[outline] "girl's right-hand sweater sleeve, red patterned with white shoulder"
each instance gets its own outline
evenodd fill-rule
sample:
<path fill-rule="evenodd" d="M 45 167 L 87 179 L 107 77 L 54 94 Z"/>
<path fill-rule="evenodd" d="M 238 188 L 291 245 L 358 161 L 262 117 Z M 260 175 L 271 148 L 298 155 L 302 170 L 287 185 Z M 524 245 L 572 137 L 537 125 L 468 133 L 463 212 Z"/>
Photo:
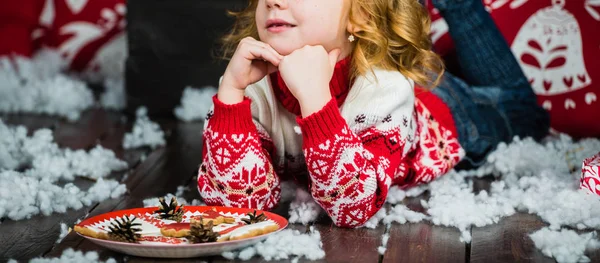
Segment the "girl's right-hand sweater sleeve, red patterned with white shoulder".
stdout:
<path fill-rule="evenodd" d="M 353 113 L 364 112 L 349 121 L 335 100 L 298 120 L 311 194 L 338 226 L 363 225 L 385 203 L 392 180 L 408 173 L 416 124 L 414 93 L 405 84 L 403 92 L 373 87 L 359 95 L 361 102 L 346 103 Z"/>

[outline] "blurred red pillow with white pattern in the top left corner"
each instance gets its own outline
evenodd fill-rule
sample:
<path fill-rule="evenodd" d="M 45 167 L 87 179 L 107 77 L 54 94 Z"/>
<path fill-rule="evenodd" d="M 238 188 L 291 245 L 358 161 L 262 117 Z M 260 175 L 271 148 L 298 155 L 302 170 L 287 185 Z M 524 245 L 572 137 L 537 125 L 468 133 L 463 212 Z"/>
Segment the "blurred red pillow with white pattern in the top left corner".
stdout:
<path fill-rule="evenodd" d="M 124 58 L 125 0 L 5 1 L 0 10 L 0 55 L 31 56 L 57 49 L 74 71 L 111 71 Z"/>

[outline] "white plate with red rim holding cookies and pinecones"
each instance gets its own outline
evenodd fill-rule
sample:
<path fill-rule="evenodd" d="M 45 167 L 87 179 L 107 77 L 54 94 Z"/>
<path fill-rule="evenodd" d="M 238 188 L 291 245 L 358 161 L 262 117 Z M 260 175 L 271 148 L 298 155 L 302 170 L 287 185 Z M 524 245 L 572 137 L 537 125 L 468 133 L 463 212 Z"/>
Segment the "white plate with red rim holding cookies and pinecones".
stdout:
<path fill-rule="evenodd" d="M 114 211 L 85 219 L 76 225 L 79 227 L 92 229 L 96 232 L 108 232 L 108 226 L 116 218 L 135 217 L 136 219 L 134 222 L 141 223 L 142 239 L 140 240 L 140 243 L 117 242 L 94 238 L 81 233 L 77 234 L 102 247 L 127 255 L 156 258 L 191 258 L 219 255 L 226 251 L 240 249 L 256 244 L 266 239 L 270 235 L 283 230 L 288 225 L 288 221 L 284 217 L 271 212 L 256 210 L 256 215 L 264 213 L 267 217 L 267 221 L 275 223 L 279 228 L 274 232 L 240 240 L 191 244 L 188 243 L 185 238 L 165 237 L 160 233 L 160 228 L 169 224 L 175 225 L 178 223 L 171 220 L 159 219 L 157 214 L 154 213 L 154 211 L 157 209 L 157 207 L 146 207 Z M 212 216 L 215 215 L 233 217 L 235 218 L 235 223 L 221 224 L 213 228 L 216 229 L 215 231 L 217 232 L 228 233 L 233 229 L 242 228 L 245 223 L 243 223 L 241 219 L 248 218 L 247 214 L 254 213 L 255 210 L 222 206 L 185 206 L 184 211 L 185 213 L 183 215 L 182 223 L 189 223 L 190 218 L 199 215 L 206 216 L 207 213 L 209 214 L 208 218 L 212 218 Z M 179 223 L 178 225 L 181 224 Z"/>

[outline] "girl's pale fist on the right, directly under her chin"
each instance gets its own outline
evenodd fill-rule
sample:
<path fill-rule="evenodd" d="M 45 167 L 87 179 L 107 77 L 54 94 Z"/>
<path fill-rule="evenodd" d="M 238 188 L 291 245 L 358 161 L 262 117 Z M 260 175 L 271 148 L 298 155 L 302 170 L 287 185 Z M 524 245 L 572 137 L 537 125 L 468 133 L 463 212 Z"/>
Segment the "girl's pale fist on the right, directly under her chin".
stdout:
<path fill-rule="evenodd" d="M 305 46 L 285 56 L 279 73 L 306 117 L 331 100 L 329 82 L 340 55 L 339 49 L 327 53 L 323 46 Z"/>

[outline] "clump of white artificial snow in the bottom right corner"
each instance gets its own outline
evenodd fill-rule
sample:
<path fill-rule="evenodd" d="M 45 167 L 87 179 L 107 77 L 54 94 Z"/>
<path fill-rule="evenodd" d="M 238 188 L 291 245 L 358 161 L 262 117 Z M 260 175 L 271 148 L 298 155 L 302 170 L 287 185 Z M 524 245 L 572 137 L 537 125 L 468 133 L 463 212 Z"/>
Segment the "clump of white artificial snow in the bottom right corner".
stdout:
<path fill-rule="evenodd" d="M 573 230 L 560 231 L 542 228 L 530 235 L 535 246 L 548 257 L 553 257 L 558 263 L 590 262 L 584 255 L 586 249 L 600 248 L 596 233 L 577 234 Z"/>

